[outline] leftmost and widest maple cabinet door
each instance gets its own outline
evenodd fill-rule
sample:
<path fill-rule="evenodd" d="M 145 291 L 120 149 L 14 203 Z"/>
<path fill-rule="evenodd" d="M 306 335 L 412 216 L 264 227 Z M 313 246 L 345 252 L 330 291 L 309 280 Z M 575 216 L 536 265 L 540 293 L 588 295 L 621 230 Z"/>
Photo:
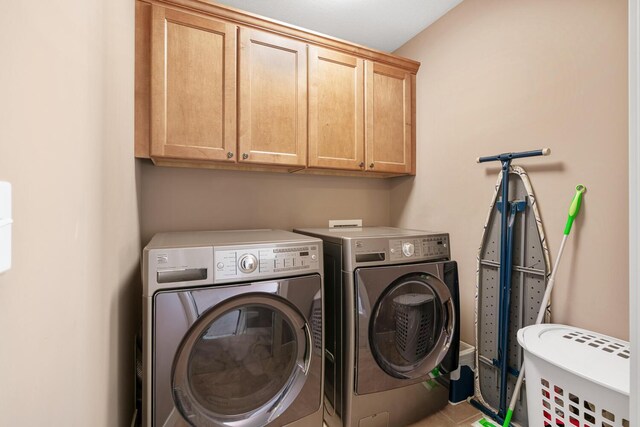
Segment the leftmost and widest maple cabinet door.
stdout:
<path fill-rule="evenodd" d="M 151 157 L 235 161 L 234 25 L 153 6 Z"/>

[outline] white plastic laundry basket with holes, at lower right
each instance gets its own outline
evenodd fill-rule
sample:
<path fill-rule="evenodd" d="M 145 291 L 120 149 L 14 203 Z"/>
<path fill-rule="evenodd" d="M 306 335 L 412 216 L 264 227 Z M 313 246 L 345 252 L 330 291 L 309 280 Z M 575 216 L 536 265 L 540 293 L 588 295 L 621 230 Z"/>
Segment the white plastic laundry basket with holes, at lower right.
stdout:
<path fill-rule="evenodd" d="M 532 427 L 629 427 L 629 343 L 564 325 L 518 331 Z"/>

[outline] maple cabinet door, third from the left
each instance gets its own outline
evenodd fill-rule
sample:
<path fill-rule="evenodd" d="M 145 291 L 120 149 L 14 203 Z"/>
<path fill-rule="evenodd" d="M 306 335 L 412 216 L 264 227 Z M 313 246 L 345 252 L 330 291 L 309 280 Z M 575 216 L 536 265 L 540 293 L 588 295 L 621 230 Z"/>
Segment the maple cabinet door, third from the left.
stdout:
<path fill-rule="evenodd" d="M 309 166 L 364 168 L 363 60 L 309 47 Z"/>

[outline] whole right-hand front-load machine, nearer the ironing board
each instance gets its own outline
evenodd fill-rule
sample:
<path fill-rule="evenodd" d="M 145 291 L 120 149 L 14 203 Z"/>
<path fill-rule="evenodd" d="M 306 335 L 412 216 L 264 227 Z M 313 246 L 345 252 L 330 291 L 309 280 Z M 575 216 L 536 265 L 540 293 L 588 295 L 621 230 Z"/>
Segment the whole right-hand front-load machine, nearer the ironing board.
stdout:
<path fill-rule="evenodd" d="M 325 422 L 399 427 L 444 407 L 459 349 L 449 235 L 389 227 L 294 231 L 324 241 Z"/>

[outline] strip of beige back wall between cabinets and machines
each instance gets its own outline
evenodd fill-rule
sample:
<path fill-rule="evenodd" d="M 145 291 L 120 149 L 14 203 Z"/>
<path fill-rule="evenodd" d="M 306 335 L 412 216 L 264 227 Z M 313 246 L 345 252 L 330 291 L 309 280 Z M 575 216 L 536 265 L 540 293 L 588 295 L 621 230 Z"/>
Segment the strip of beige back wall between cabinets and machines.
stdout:
<path fill-rule="evenodd" d="M 281 173 L 141 169 L 143 245 L 182 230 L 326 227 L 329 219 L 389 224 L 389 180 Z"/>

